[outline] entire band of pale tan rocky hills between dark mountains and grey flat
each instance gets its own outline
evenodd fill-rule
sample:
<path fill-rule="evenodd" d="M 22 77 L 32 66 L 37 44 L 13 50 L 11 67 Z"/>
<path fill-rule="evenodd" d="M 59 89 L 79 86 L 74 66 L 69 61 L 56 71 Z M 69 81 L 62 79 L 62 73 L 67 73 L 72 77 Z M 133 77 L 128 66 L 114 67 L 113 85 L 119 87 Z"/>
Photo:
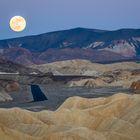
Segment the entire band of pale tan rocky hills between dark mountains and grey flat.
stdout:
<path fill-rule="evenodd" d="M 67 60 L 49 64 L 33 65 L 35 69 L 53 72 L 54 75 L 80 75 L 89 77 L 73 78 L 67 81 L 70 87 L 107 87 L 121 86 L 129 88 L 132 82 L 140 79 L 140 64 L 121 62 L 113 64 L 98 64 L 87 60 Z"/>

